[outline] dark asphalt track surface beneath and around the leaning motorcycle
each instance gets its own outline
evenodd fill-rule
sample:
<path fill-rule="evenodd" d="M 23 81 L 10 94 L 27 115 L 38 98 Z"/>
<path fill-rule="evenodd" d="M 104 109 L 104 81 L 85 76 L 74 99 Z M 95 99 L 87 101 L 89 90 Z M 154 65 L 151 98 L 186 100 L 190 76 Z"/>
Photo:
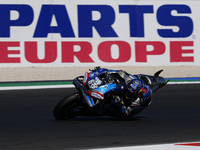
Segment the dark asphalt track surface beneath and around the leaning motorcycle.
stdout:
<path fill-rule="evenodd" d="M 59 150 L 200 141 L 200 84 L 167 85 L 137 116 L 57 121 L 56 103 L 75 89 L 0 91 L 0 149 Z"/>

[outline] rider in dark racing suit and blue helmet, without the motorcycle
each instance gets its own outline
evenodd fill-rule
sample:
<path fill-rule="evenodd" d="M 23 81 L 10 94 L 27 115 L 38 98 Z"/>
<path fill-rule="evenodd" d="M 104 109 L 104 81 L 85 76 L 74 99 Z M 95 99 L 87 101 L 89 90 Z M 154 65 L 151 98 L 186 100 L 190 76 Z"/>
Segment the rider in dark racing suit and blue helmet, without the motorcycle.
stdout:
<path fill-rule="evenodd" d="M 124 116 L 132 112 L 139 113 L 151 104 L 151 88 L 140 79 L 140 75 L 131 75 L 123 70 L 107 70 L 108 82 L 118 82 L 120 94 L 113 95 L 113 103 L 121 109 Z M 116 92 L 119 93 L 119 92 Z"/>

